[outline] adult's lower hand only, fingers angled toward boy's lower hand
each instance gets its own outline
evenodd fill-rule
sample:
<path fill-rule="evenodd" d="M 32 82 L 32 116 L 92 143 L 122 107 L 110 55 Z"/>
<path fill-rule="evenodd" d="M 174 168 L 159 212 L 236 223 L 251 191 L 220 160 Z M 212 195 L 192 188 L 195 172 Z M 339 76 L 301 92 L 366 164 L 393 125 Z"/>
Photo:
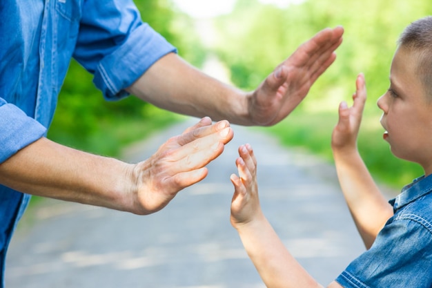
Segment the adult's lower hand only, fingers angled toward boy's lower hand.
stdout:
<path fill-rule="evenodd" d="M 181 189 L 206 177 L 206 164 L 224 151 L 233 138 L 227 121 L 211 125 L 208 117 L 179 136 L 170 138 L 157 152 L 133 169 L 135 213 L 164 208 Z"/>

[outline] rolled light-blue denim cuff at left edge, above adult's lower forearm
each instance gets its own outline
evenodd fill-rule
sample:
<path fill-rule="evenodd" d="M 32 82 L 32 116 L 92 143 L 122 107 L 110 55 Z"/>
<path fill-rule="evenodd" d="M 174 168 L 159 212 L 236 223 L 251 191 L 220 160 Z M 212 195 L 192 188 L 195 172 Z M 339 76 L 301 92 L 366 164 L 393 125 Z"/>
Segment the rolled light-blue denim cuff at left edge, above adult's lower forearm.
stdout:
<path fill-rule="evenodd" d="M 0 98 L 0 164 L 45 135 L 46 128 Z"/>

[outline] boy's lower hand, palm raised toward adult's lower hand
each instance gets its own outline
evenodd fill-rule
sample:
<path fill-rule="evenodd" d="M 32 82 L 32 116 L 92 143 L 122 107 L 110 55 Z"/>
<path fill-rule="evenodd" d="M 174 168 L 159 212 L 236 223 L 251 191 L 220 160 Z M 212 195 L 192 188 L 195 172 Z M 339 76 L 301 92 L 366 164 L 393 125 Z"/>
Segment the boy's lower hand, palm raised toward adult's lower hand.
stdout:
<path fill-rule="evenodd" d="M 235 189 L 230 220 L 235 229 L 262 216 L 258 199 L 257 160 L 251 145 L 240 146 L 239 155 L 235 161 L 239 176 L 233 174 L 230 177 Z"/>

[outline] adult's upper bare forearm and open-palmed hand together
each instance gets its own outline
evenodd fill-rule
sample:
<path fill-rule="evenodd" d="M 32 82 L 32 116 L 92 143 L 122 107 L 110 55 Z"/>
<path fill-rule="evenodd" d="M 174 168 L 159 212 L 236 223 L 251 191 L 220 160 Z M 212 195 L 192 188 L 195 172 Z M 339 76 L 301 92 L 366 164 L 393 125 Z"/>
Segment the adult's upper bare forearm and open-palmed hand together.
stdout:
<path fill-rule="evenodd" d="M 324 29 L 268 75 L 252 93 L 209 77 L 174 53 L 161 57 L 128 91 L 169 111 L 227 119 L 247 126 L 280 122 L 306 97 L 317 77 L 335 61 L 344 29 Z"/>

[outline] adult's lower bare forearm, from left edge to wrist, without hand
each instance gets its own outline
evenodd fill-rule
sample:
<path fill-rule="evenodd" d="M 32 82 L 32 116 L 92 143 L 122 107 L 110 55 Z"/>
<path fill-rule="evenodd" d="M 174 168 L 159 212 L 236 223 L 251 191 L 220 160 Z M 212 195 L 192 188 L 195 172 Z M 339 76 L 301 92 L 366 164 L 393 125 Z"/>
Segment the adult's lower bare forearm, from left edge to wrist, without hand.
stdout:
<path fill-rule="evenodd" d="M 131 169 L 41 138 L 0 164 L 0 183 L 32 195 L 130 211 Z"/>

